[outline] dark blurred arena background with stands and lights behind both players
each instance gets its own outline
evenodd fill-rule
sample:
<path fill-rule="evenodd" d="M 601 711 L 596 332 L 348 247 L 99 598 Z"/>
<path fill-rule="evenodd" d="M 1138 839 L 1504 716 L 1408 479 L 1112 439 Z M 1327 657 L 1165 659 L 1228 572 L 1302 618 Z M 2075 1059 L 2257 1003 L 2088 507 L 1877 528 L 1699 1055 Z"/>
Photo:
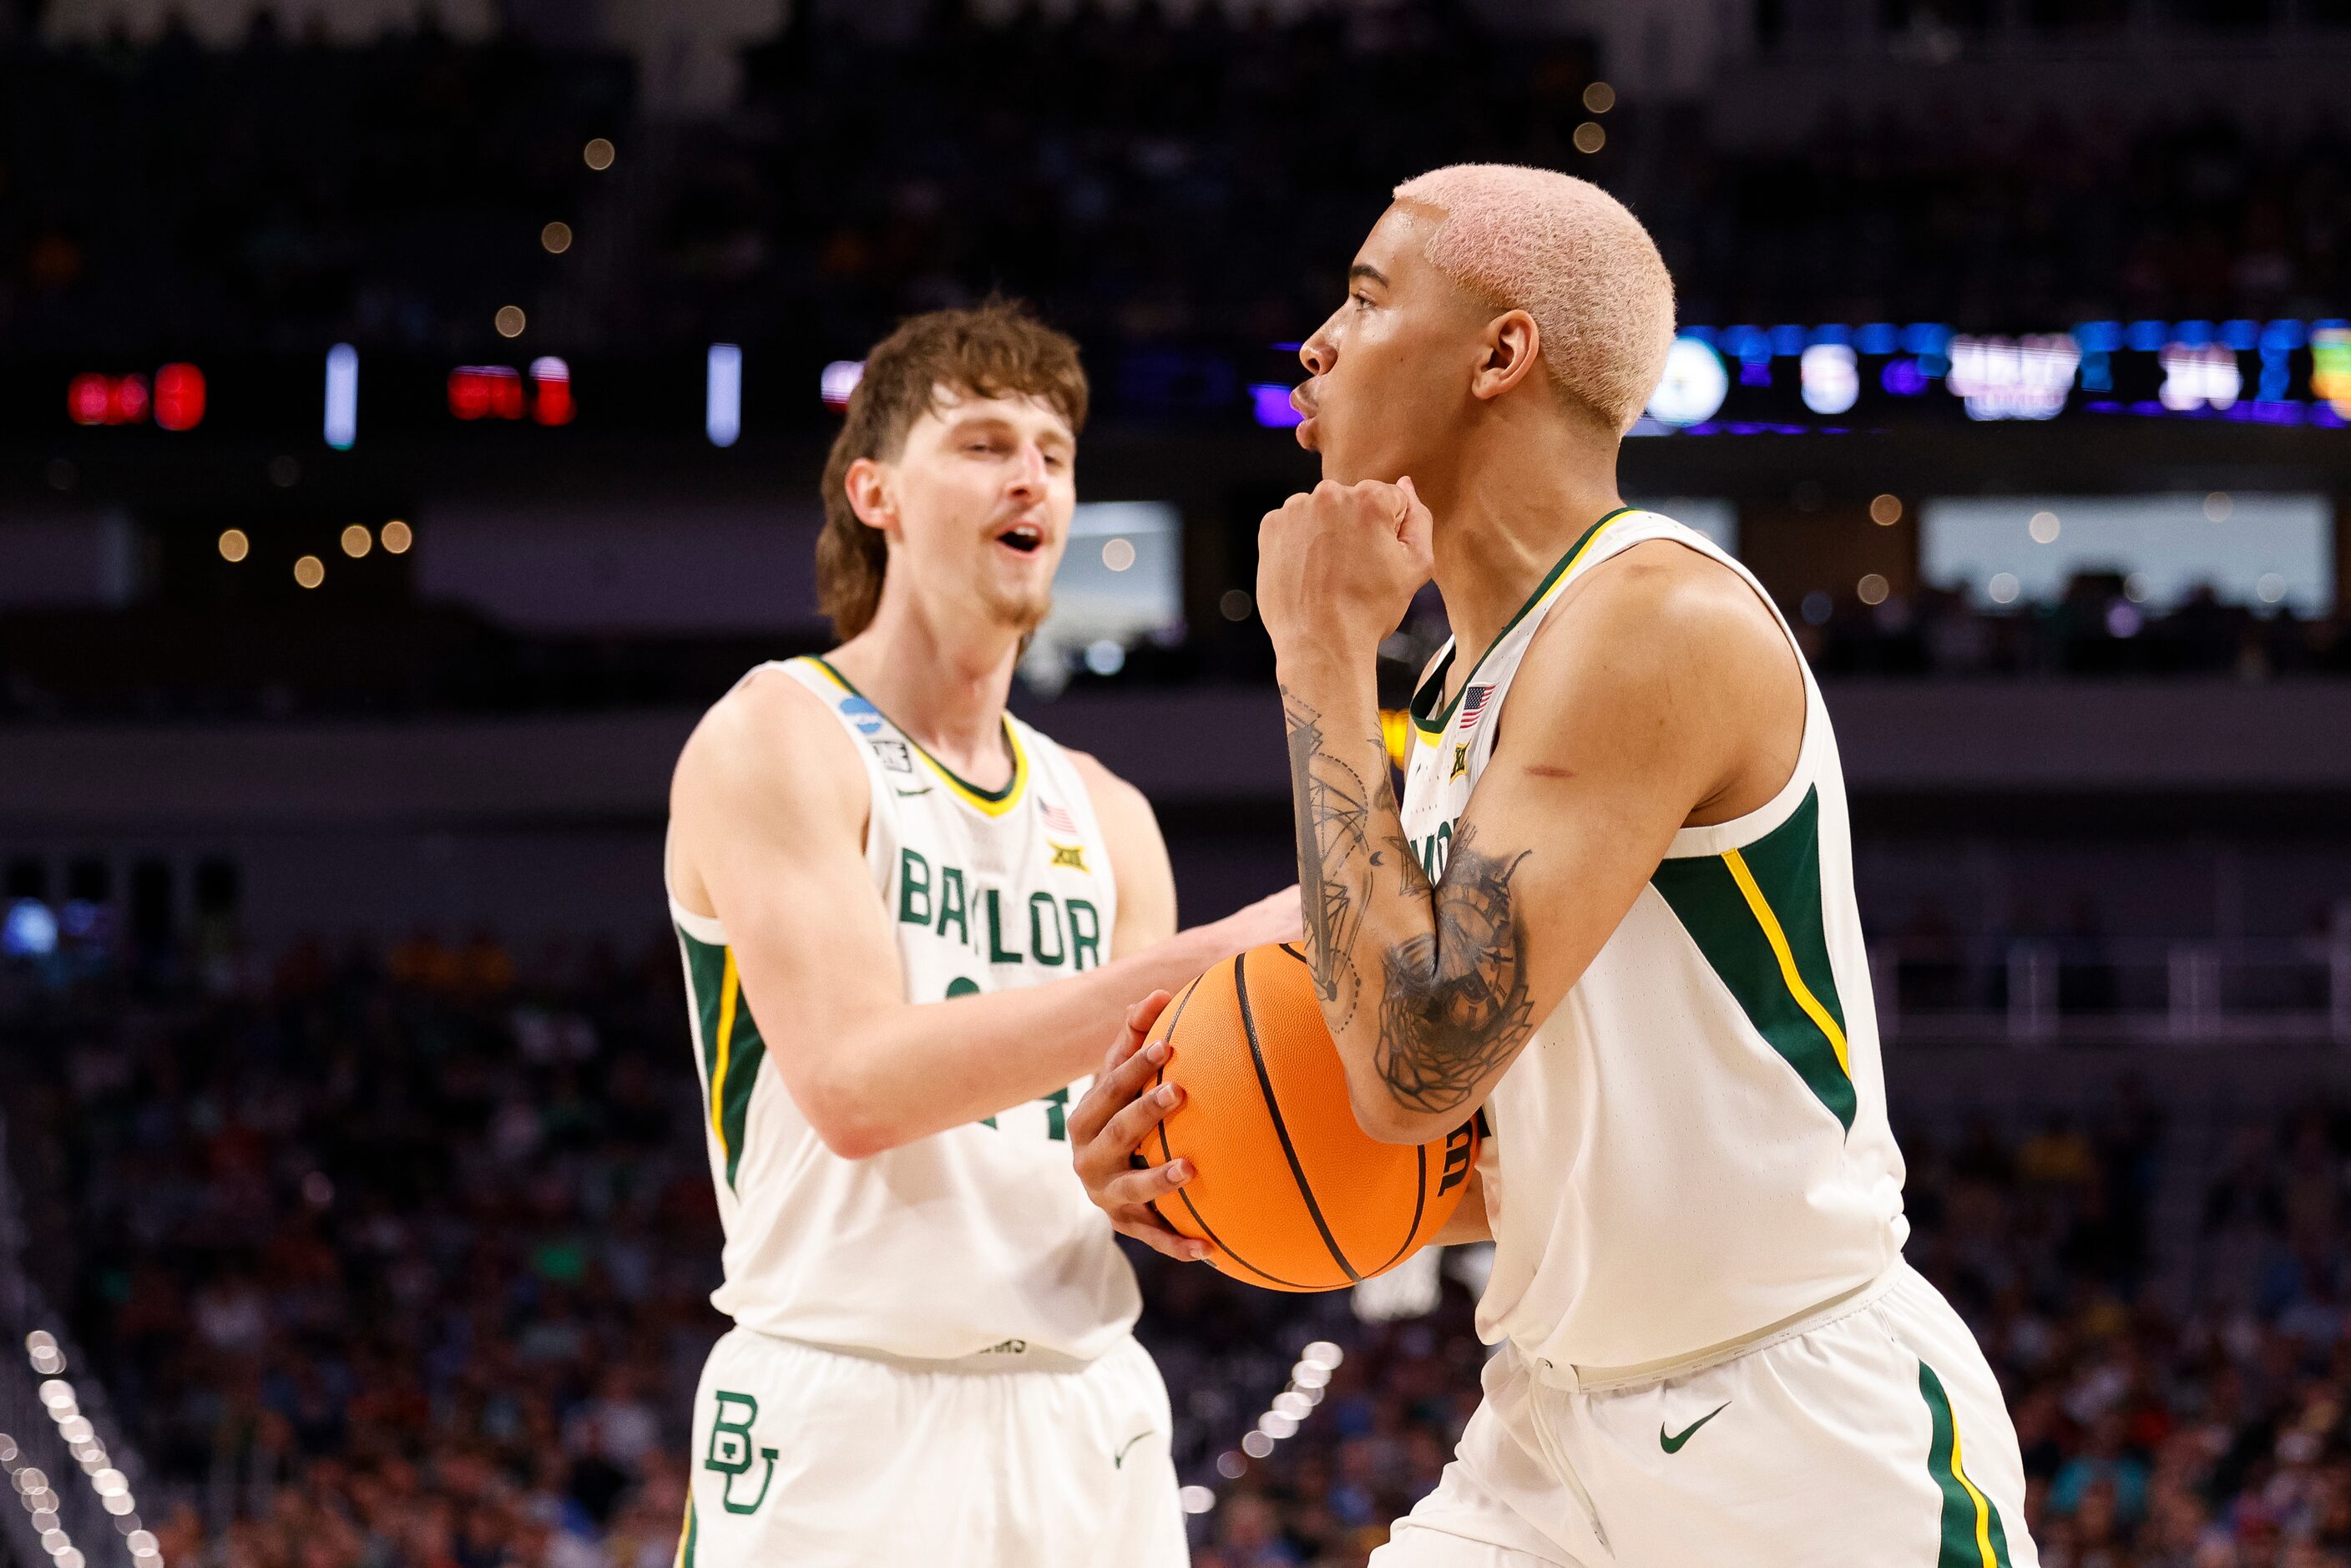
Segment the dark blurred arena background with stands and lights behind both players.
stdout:
<path fill-rule="evenodd" d="M 1523 160 L 1674 270 L 1622 489 L 1822 675 L 2045 1561 L 2351 1561 L 2346 68 L 2346 0 L 0 2 L 0 1556 L 668 1563 L 665 780 L 823 646 L 828 400 L 938 303 L 1081 339 L 1016 705 L 1218 914 L 1293 877 L 1288 346 Z M 1147 1269 L 1204 1568 L 1434 1481 L 1479 1262 Z"/>

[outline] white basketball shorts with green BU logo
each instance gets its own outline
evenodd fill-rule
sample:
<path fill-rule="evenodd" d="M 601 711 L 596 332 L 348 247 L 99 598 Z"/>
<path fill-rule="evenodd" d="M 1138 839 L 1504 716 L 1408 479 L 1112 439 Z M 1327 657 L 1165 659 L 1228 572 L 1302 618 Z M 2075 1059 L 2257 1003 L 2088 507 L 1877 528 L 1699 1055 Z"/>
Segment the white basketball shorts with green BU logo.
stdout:
<path fill-rule="evenodd" d="M 1185 1568 L 1171 1432 L 1133 1340 L 933 1371 L 736 1328 L 694 1394 L 677 1568 Z"/>

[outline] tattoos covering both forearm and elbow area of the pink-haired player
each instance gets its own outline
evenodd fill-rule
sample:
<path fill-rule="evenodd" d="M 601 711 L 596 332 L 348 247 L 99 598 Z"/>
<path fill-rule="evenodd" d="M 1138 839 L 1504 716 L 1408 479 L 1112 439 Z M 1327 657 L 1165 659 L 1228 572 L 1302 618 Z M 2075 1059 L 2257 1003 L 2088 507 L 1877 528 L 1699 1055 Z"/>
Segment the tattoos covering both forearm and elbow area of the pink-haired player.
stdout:
<path fill-rule="evenodd" d="M 1288 689 L 1281 691 L 1281 705 L 1298 806 L 1307 961 L 1324 1013 L 1333 1032 L 1354 1020 L 1361 999 L 1354 947 L 1373 877 L 1394 865 L 1396 893 L 1420 903 L 1429 929 L 1389 943 L 1378 957 L 1380 1032 L 1373 1065 L 1396 1105 L 1460 1110 L 1535 1025 L 1526 985 L 1526 929 L 1509 903 L 1509 879 L 1526 851 L 1488 856 L 1476 846 L 1476 827 L 1462 823 L 1444 882 L 1432 889 L 1404 837 L 1387 769 L 1375 766 L 1375 783 L 1366 783 L 1328 745 L 1321 712 Z M 1364 745 L 1364 755 L 1385 757 L 1378 736 Z"/>

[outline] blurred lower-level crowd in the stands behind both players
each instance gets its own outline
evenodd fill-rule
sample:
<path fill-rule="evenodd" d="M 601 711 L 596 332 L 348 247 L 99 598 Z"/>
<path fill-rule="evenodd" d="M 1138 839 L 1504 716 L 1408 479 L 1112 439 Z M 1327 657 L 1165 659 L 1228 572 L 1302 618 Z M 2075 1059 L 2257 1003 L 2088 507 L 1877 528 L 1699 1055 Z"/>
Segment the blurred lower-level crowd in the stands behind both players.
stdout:
<path fill-rule="evenodd" d="M 165 1561 L 658 1568 L 717 1225 L 675 954 L 489 938 L 59 987 L 0 969 L 31 1220 Z M 2050 1568 L 2351 1563 L 2351 1112 L 1904 1128 L 1911 1260 L 2015 1408 Z M 2215 1131 L 2217 1128 L 2217 1131 Z M 2208 1152 L 2210 1150 L 2210 1152 Z M 1460 1269 L 1453 1269 L 1460 1272 Z M 1474 1408 L 1469 1298 L 1359 1324 L 1145 1260 L 1199 1568 L 1347 1568 Z M 1310 1340 L 1302 1429 L 1239 1450 Z"/>

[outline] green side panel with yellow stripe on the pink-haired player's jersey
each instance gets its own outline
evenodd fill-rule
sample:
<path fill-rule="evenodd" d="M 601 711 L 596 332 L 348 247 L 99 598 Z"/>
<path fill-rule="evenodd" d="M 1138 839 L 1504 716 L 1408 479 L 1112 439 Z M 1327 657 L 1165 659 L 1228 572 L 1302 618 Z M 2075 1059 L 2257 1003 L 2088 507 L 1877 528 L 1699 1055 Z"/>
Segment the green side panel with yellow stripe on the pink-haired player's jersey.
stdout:
<path fill-rule="evenodd" d="M 1860 1095 L 1820 896 L 1820 790 L 1754 844 L 1662 860 L 1648 882 L 1763 1041 L 1850 1133 Z"/>

